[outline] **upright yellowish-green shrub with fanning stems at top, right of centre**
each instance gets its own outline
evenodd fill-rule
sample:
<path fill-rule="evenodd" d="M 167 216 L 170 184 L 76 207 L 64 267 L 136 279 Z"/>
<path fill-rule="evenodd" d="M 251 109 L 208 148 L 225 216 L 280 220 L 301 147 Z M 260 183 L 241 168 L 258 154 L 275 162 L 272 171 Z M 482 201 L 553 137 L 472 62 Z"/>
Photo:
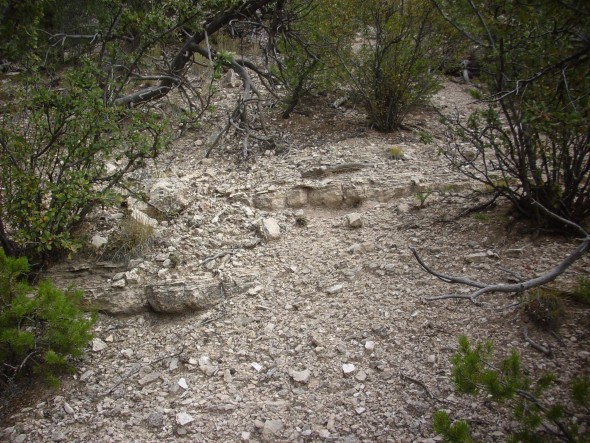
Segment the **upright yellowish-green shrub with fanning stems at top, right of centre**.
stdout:
<path fill-rule="evenodd" d="M 426 1 L 354 3 L 361 35 L 340 59 L 372 126 L 399 129 L 437 91 L 440 29 Z"/>

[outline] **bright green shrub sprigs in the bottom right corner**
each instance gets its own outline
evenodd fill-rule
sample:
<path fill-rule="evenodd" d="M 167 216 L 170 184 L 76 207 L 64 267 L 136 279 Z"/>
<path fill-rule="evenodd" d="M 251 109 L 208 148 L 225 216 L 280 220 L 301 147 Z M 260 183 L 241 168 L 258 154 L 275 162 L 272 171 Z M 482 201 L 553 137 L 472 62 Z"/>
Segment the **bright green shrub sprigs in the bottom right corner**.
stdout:
<path fill-rule="evenodd" d="M 452 377 L 457 391 L 470 395 L 483 393 L 495 402 L 513 407 L 519 426 L 508 441 L 544 442 L 584 440 L 576 415 L 586 415 L 590 403 L 590 378 L 581 377 L 571 384 L 571 404 L 566 406 L 543 399 L 555 384 L 555 375 L 546 373 L 532 381 L 523 369 L 520 356 L 512 351 L 500 362 L 494 361 L 492 342 L 471 346 L 465 336 L 459 338 L 459 350 L 451 357 Z M 576 414 L 577 413 L 577 414 Z M 437 411 L 434 430 L 447 442 L 471 442 L 469 425 L 451 422 L 446 411 Z"/>

